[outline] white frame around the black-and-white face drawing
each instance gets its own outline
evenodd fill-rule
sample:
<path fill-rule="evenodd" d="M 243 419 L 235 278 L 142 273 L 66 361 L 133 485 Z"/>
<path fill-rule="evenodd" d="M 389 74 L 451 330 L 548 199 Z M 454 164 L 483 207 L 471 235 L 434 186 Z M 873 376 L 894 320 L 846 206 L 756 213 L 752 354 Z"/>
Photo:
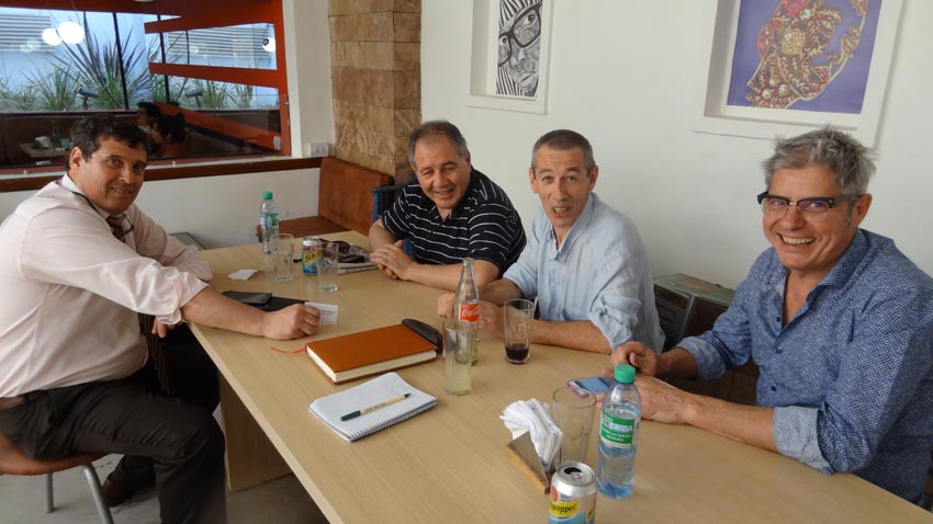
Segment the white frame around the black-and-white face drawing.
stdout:
<path fill-rule="evenodd" d="M 501 9 L 503 2 L 507 9 Z M 499 37 L 504 33 L 508 35 L 506 37 L 514 36 L 519 30 L 517 26 L 510 26 L 501 31 L 502 12 L 509 11 L 508 8 L 512 8 L 515 14 L 513 19 L 503 21 L 506 23 L 512 21 L 518 24 L 519 19 L 533 22 L 535 16 L 538 16 L 540 32 L 537 41 L 530 43 L 538 52 L 537 86 L 532 89 L 533 94 L 528 94 L 528 91 L 503 92 L 508 91 L 503 89 L 503 83 L 509 80 L 503 79 L 504 73 L 501 76 L 504 65 L 499 64 L 503 58 L 499 53 Z M 473 0 L 470 93 L 466 102 L 469 106 L 521 113 L 547 113 L 552 15 L 553 0 Z M 514 38 L 510 42 L 516 45 Z M 527 43 L 522 42 L 522 44 Z M 506 54 L 512 58 L 510 53 Z"/>

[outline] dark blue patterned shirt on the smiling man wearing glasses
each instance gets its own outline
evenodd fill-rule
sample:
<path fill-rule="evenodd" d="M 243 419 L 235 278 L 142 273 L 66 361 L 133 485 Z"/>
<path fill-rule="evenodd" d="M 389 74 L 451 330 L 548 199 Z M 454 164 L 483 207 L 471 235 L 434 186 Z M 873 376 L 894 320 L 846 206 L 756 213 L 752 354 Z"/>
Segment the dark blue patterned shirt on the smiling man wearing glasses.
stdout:
<path fill-rule="evenodd" d="M 782 326 L 786 278 L 768 249 L 712 330 L 678 344 L 697 378 L 752 358 L 783 455 L 918 502 L 933 445 L 933 278 L 865 230 Z"/>

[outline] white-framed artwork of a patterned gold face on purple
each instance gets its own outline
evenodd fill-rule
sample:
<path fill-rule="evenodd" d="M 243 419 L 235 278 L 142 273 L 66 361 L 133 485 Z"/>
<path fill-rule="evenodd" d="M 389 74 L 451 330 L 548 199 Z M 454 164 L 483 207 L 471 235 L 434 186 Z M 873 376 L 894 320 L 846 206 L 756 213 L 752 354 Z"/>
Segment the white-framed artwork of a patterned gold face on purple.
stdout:
<path fill-rule="evenodd" d="M 695 130 L 875 141 L 902 0 L 707 0 Z"/>

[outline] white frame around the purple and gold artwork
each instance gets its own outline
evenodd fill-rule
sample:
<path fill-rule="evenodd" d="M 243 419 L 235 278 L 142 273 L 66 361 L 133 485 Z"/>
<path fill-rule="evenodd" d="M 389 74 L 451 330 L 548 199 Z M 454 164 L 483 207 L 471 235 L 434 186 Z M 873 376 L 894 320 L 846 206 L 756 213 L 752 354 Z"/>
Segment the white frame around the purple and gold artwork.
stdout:
<path fill-rule="evenodd" d="M 761 0 L 709 1 L 712 5 L 709 9 L 708 20 L 700 23 L 704 27 L 700 42 L 708 44 L 700 46 L 700 57 L 697 62 L 695 93 L 699 100 L 695 103 L 697 112 L 694 117 L 694 130 L 774 139 L 776 136 L 795 136 L 831 124 L 851 133 L 868 147 L 875 145 L 903 0 L 867 0 L 869 11 L 865 20 L 872 15 L 877 18 L 870 20 L 874 24 L 872 41 L 867 42 L 867 38 L 859 41 L 853 55 L 853 57 L 862 56 L 864 60 L 864 54 L 867 53 L 869 60 L 869 65 L 866 66 L 867 73 L 861 79 L 855 79 L 855 82 L 859 80 L 864 82 L 861 104 L 858 100 L 855 100 L 854 104 L 861 105 L 857 111 L 797 110 L 794 106 L 801 105 L 797 103 L 790 104 L 787 109 L 742 106 L 734 103 L 734 92 L 733 103 L 728 103 L 730 82 L 732 82 L 733 91 L 735 84 L 731 76 L 733 70 L 738 69 L 734 52 L 740 32 L 740 8 L 743 2 L 760 4 Z M 827 3 L 830 1 L 827 0 Z M 771 9 L 774 10 L 777 3 L 775 1 Z M 758 8 L 758 4 L 754 8 Z M 865 35 L 867 34 L 866 31 Z M 870 47 L 867 44 L 872 44 Z"/>

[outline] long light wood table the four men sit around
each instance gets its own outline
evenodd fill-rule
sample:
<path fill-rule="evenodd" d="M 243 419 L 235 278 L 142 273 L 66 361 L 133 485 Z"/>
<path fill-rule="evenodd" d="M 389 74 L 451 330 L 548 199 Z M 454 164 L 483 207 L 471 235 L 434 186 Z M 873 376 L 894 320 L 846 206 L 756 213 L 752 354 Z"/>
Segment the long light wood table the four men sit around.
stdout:
<path fill-rule="evenodd" d="M 339 238 L 363 242 L 357 233 Z M 416 318 L 439 326 L 441 293 L 390 281 L 375 271 L 341 275 L 336 294 L 318 294 L 315 277 L 296 269 L 291 283 L 257 274 L 246 282 L 225 275 L 260 264 L 259 244 L 202 252 L 218 291 L 271 291 L 277 295 L 337 304 L 328 338 Z M 350 387 L 334 386 L 297 349 L 307 338 L 276 342 L 212 328 L 194 333 L 229 384 L 222 406 L 228 441 L 228 475 L 268 477 L 270 459 L 249 436 L 236 398 L 243 401 L 288 467 L 333 523 L 543 523 L 547 497 L 508 459 L 512 435 L 498 420 L 508 403 L 550 400 L 569 378 L 598 373 L 605 356 L 535 345 L 526 365 L 504 362 L 501 341 L 481 342 L 473 391 L 462 397 L 441 389 L 442 362 L 400 371 L 415 387 L 438 397 L 426 413 L 355 443 L 315 419 L 307 405 Z M 233 398 L 235 395 L 236 398 Z M 244 442 L 246 441 L 246 442 Z M 587 460 L 596 464 L 596 438 Z M 276 468 L 272 467 L 272 470 Z M 258 474 L 257 474 L 258 472 Z M 245 483 L 244 483 L 245 485 Z M 825 476 L 775 453 L 685 426 L 643 422 L 634 493 L 618 501 L 597 498 L 599 523 L 657 522 L 931 522 L 933 515 L 853 475 Z"/>

